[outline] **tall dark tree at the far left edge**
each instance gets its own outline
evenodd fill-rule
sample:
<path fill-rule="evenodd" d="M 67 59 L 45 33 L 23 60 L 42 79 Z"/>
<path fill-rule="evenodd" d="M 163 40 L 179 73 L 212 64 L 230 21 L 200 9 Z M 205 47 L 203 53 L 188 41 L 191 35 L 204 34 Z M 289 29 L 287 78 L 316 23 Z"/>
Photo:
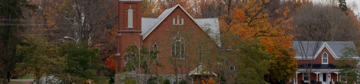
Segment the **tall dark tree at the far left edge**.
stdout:
<path fill-rule="evenodd" d="M 1 57 L 3 83 L 10 82 L 10 71 L 15 68 L 16 62 L 21 61 L 15 56 L 17 45 L 17 32 L 24 30 L 24 27 L 16 24 L 23 18 L 23 9 L 35 9 L 36 6 L 28 3 L 27 0 L 0 0 L 0 18 L 4 24 L 0 25 Z M 6 81 L 8 79 L 8 81 Z"/>

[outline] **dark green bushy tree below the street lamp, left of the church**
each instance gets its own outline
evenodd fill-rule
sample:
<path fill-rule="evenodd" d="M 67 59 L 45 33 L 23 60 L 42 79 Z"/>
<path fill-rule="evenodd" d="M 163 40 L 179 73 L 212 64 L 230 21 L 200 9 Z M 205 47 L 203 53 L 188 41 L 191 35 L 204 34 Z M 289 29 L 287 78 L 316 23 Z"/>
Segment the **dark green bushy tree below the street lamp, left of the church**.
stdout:
<path fill-rule="evenodd" d="M 62 80 L 60 83 L 107 83 L 103 77 L 96 74 L 96 69 L 104 67 L 99 63 L 99 48 L 89 49 L 87 43 L 67 42 L 59 45 L 59 56 L 66 58 L 66 69 L 56 73 L 54 78 Z"/>

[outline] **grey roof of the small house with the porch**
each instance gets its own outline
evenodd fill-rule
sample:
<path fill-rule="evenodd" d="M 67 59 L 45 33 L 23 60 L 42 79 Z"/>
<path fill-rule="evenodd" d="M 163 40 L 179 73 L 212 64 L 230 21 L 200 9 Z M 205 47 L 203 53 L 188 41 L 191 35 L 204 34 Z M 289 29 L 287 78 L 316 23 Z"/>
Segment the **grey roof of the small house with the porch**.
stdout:
<path fill-rule="evenodd" d="M 353 41 L 293 41 L 292 48 L 295 50 L 296 58 L 301 58 L 302 56 L 312 57 L 325 43 L 329 45 L 330 49 L 334 52 L 334 54 L 336 54 L 337 57 L 343 56 L 342 49 L 345 47 L 355 48 Z"/>

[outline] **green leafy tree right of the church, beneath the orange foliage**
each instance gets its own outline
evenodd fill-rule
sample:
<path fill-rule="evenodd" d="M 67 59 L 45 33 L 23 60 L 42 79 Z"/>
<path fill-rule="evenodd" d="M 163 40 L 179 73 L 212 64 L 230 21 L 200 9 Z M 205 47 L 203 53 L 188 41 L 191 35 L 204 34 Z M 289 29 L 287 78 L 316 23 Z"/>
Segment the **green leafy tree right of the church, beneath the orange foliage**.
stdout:
<path fill-rule="evenodd" d="M 240 84 L 269 84 L 264 80 L 268 74 L 271 55 L 263 50 L 260 41 L 248 41 L 236 44 L 233 52 L 236 53 L 239 66 L 237 83 Z"/>

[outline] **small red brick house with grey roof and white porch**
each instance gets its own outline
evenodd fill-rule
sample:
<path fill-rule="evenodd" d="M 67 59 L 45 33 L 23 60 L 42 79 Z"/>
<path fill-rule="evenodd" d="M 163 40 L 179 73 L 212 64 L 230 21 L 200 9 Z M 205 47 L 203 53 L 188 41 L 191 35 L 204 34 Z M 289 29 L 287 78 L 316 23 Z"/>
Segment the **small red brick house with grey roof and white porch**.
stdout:
<path fill-rule="evenodd" d="M 343 49 L 347 47 L 355 48 L 354 42 L 293 41 L 292 48 L 296 53 L 298 70 L 296 71 L 296 77 L 290 79 L 289 84 L 302 84 L 302 81 L 310 83 L 311 80 L 315 82 L 321 81 L 322 84 L 330 84 L 330 81 L 344 81 L 341 80 L 339 69 L 336 68 L 334 63 L 343 56 Z M 354 56 L 353 58 L 357 59 L 359 57 Z M 308 72 L 311 72 L 310 76 L 307 75 Z"/>

